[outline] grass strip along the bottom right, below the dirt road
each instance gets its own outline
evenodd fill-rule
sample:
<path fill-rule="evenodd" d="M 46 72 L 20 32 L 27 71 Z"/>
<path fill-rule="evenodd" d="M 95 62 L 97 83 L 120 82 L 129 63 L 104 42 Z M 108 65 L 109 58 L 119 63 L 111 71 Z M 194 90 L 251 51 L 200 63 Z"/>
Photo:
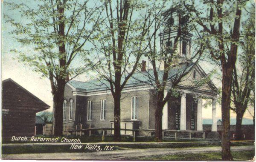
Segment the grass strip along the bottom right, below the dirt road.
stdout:
<path fill-rule="evenodd" d="M 232 156 L 234 160 L 244 161 L 252 160 L 255 155 L 254 150 L 250 151 L 233 151 Z M 135 159 L 134 159 L 135 160 Z M 136 158 L 136 160 L 221 160 L 221 152 L 205 152 L 205 153 L 177 153 L 175 155 L 165 156 L 148 156 Z"/>

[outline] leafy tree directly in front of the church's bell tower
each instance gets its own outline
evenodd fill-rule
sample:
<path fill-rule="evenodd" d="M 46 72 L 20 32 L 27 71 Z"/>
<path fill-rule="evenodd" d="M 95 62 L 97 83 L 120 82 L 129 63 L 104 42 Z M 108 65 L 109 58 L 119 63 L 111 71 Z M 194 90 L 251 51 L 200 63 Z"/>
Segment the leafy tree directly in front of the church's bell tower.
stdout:
<path fill-rule="evenodd" d="M 189 23 L 189 15 L 186 9 L 180 5 L 180 3 L 173 3 L 172 6 L 177 6 L 168 9 L 160 15 L 159 19 L 154 21 L 154 30 L 148 31 L 148 50 L 145 54 L 151 64 L 152 69 L 142 72 L 145 78 L 144 83 L 153 87 L 154 95 L 156 96 L 156 110 L 155 110 L 155 134 L 154 140 L 161 142 L 163 139 L 162 134 L 162 115 L 163 107 L 166 102 L 175 97 L 178 94 L 175 88 L 181 88 L 180 82 L 183 82 L 185 77 L 192 68 L 198 63 L 201 54 L 204 51 L 204 45 L 198 41 L 198 48 L 195 48 L 195 52 L 190 54 L 189 50 L 183 54 L 179 52 L 180 42 L 188 39 L 187 35 L 194 30 L 194 27 Z M 172 14 L 177 17 L 177 21 Z M 175 33 L 175 37 L 172 35 Z M 166 39 L 164 40 L 163 39 Z M 174 37 L 174 38 L 173 38 Z M 160 43 L 161 42 L 161 43 Z M 160 43 L 160 46 L 158 45 Z M 191 42 L 187 42 L 191 45 Z M 192 63 L 192 60 L 195 62 Z M 160 62 L 160 63 L 159 63 Z M 162 66 L 162 67 L 160 67 Z M 170 74 L 170 71 L 178 71 L 176 76 Z M 138 79 L 140 82 L 142 80 Z M 186 89 L 196 88 L 209 81 L 209 77 L 203 80 L 194 82 L 194 85 L 189 85 Z M 169 89 L 169 90 L 167 90 Z M 165 91 L 167 92 L 165 94 Z"/>

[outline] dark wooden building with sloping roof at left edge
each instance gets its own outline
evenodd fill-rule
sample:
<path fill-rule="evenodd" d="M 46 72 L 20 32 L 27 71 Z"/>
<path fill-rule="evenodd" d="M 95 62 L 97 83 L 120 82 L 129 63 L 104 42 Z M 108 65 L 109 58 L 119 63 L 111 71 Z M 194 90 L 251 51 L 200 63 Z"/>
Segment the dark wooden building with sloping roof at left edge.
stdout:
<path fill-rule="evenodd" d="M 33 136 L 35 116 L 50 108 L 12 79 L 2 82 L 2 137 Z"/>

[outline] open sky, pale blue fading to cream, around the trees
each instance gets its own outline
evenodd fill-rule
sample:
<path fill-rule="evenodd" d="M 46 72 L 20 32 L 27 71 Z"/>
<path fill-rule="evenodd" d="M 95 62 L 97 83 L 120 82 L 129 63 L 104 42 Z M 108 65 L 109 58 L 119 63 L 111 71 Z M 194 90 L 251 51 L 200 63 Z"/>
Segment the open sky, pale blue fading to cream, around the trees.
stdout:
<path fill-rule="evenodd" d="M 15 2 L 15 0 L 9 0 Z M 34 0 L 21 0 L 21 2 L 27 2 L 31 7 L 35 5 Z M 31 53 L 33 52 L 32 47 L 22 46 L 20 43 L 14 38 L 13 34 L 9 32 L 12 30 L 12 27 L 5 23 L 3 19 L 3 14 L 7 14 L 10 17 L 13 17 L 17 20 L 26 22 L 27 20 L 23 17 L 20 17 L 19 12 L 17 11 L 9 11 L 7 7 L 2 5 L 2 44 L 1 44 L 1 80 L 6 80 L 11 78 L 23 88 L 26 88 L 29 92 L 34 94 L 36 97 L 47 103 L 51 108 L 48 111 L 52 111 L 52 94 L 50 88 L 50 82 L 47 78 L 42 78 L 41 74 L 32 71 L 32 69 L 24 65 L 23 63 L 18 62 L 15 58 L 17 57 L 15 53 L 10 52 L 12 49 L 20 49 L 24 52 Z M 207 62 L 201 62 L 201 67 L 206 71 L 209 72 L 211 69 L 214 68 L 213 65 Z M 91 78 L 87 78 L 86 75 L 81 75 L 76 77 L 75 80 L 84 81 Z M 213 79 L 215 85 L 221 85 L 221 82 L 218 80 Z M 203 100 L 203 104 L 206 100 Z M 236 114 L 231 112 L 231 117 L 236 117 Z M 221 106 L 217 105 L 217 117 L 221 118 Z M 245 113 L 244 117 L 252 118 L 249 113 Z M 212 118 L 212 108 L 208 106 L 207 108 L 203 108 L 203 118 Z"/>

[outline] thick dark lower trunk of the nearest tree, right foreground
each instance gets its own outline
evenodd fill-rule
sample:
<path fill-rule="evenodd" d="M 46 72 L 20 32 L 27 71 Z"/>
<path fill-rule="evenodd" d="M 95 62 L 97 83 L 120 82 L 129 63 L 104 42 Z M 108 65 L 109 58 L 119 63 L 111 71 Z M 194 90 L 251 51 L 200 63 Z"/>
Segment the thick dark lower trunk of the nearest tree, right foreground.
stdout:
<path fill-rule="evenodd" d="M 230 95 L 233 66 L 222 64 L 222 96 L 221 96 L 221 156 L 222 160 L 233 160 L 230 153 Z"/>

